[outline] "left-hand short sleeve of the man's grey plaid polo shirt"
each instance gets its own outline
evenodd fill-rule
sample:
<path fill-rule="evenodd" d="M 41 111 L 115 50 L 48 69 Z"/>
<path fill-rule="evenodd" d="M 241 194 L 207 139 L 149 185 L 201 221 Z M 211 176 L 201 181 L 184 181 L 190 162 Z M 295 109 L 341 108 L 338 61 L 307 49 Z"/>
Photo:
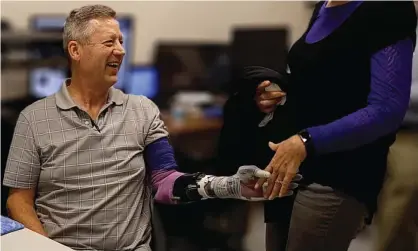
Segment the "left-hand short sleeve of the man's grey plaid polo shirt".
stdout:
<path fill-rule="evenodd" d="M 3 184 L 13 188 L 33 188 L 38 184 L 40 158 L 29 120 L 20 114 L 16 123 Z"/>

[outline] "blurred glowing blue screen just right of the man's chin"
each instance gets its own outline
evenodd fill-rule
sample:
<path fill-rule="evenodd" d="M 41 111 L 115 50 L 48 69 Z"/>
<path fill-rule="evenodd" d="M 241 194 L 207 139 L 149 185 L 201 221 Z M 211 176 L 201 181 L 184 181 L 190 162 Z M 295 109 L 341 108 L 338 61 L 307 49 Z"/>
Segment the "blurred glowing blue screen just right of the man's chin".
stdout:
<path fill-rule="evenodd" d="M 133 95 L 144 95 L 154 99 L 158 93 L 158 73 L 153 66 L 130 67 L 128 80 L 125 82 L 125 92 Z"/>

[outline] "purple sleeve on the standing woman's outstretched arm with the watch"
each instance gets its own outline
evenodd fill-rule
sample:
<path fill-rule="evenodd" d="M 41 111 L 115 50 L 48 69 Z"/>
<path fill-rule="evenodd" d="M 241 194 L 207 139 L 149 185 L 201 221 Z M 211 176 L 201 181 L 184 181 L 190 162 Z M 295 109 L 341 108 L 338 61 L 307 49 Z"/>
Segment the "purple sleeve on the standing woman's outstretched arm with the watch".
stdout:
<path fill-rule="evenodd" d="M 373 55 L 368 105 L 329 124 L 307 129 L 318 154 L 353 149 L 398 129 L 409 103 L 412 56 L 410 39 Z"/>

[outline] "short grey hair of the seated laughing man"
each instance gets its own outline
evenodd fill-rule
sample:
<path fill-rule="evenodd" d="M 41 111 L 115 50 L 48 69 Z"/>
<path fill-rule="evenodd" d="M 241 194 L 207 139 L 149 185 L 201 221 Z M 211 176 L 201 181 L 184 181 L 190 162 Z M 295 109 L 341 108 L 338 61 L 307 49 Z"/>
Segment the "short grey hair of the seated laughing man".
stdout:
<path fill-rule="evenodd" d="M 68 42 L 71 40 L 79 41 L 81 43 L 88 42 L 93 29 L 89 22 L 92 19 L 101 18 L 115 18 L 116 11 L 105 5 L 86 5 L 70 12 L 70 15 L 65 20 L 63 32 L 63 46 L 64 51 L 68 53 Z"/>

